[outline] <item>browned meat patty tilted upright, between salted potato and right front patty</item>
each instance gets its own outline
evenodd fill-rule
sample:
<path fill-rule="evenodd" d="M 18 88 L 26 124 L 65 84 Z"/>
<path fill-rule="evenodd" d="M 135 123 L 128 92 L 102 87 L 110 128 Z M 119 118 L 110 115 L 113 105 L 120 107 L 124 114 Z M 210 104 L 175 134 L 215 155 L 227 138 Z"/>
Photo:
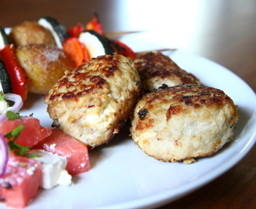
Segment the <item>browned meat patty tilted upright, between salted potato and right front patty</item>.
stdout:
<path fill-rule="evenodd" d="M 92 149 L 119 132 L 141 91 L 133 62 L 114 53 L 66 71 L 45 103 L 54 126 Z"/>

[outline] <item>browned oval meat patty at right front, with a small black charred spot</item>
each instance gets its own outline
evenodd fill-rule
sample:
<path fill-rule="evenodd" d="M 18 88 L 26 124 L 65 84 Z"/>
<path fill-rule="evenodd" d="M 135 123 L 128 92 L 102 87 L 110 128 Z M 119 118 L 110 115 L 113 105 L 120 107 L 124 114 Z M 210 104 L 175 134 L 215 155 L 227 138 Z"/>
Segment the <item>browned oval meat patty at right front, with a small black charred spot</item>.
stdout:
<path fill-rule="evenodd" d="M 147 155 L 191 163 L 229 142 L 237 119 L 237 106 L 223 91 L 180 85 L 144 94 L 134 110 L 130 132 Z"/>

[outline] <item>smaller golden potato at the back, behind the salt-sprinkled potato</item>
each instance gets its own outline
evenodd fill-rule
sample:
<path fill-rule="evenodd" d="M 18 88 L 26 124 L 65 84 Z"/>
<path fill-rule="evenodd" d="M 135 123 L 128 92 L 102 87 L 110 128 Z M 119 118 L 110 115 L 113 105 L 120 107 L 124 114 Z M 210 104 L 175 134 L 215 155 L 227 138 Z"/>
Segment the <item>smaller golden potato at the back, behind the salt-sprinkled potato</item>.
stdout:
<path fill-rule="evenodd" d="M 9 37 L 15 46 L 26 46 L 34 43 L 56 45 L 50 30 L 40 26 L 37 22 L 25 21 L 14 26 Z"/>

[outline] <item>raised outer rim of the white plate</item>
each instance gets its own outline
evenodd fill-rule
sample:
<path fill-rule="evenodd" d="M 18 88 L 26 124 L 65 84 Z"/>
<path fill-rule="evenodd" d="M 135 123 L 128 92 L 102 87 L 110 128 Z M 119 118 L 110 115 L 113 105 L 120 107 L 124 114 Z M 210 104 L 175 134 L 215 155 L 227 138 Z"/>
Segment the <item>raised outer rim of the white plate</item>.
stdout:
<path fill-rule="evenodd" d="M 177 50 L 175 51 L 175 53 L 171 54 L 171 59 L 174 56 L 177 56 L 177 54 L 181 54 L 178 56 L 182 56 L 182 54 L 186 54 L 187 56 L 192 56 L 192 57 L 197 57 L 198 59 L 203 59 L 206 60 L 206 62 L 209 63 L 214 63 L 217 66 L 222 67 L 223 69 L 227 70 L 229 73 L 233 74 L 234 77 L 237 77 L 237 79 L 240 80 L 240 82 L 243 82 L 244 86 L 247 87 L 248 91 L 250 90 L 250 94 L 253 94 L 254 91 L 251 89 L 251 87 L 245 82 L 243 81 L 240 77 L 238 77 L 236 74 L 234 74 L 234 72 L 228 70 L 226 67 L 221 66 L 218 63 L 213 62 L 212 60 L 208 60 L 205 57 L 201 57 L 199 55 L 195 55 L 192 53 L 186 53 L 183 52 L 181 50 Z M 176 55 L 175 55 L 176 54 Z M 175 60 L 175 59 L 174 59 Z M 254 102 L 255 102 L 255 107 L 256 107 L 256 95 L 254 94 Z M 256 118 L 256 108 L 253 109 L 253 116 L 250 118 L 250 121 L 252 119 Z M 248 122 L 250 122 L 248 121 Z M 223 173 L 227 172 L 228 170 L 230 170 L 232 167 L 234 167 L 237 163 L 240 162 L 240 160 L 242 160 L 244 158 L 244 156 L 247 155 L 248 152 L 250 152 L 250 150 L 252 149 L 252 147 L 254 146 L 255 142 L 256 142 L 256 124 L 253 125 L 253 130 L 254 132 L 251 135 L 251 138 L 247 140 L 247 146 L 245 146 L 243 148 L 243 150 L 241 150 L 240 155 L 235 155 L 232 157 L 232 159 L 229 159 L 226 163 L 221 163 L 221 165 L 218 168 L 215 168 L 214 170 L 211 170 L 210 173 L 213 173 L 212 175 L 209 175 L 208 173 L 206 173 L 206 175 L 201 176 L 199 179 L 191 182 L 191 183 L 186 183 L 185 185 L 182 185 L 178 188 L 175 188 L 173 190 L 176 190 L 176 194 L 173 194 L 173 190 L 168 190 L 165 192 L 162 192 L 160 194 L 154 194 L 154 195 L 149 195 L 148 197 L 144 197 L 144 198 L 139 198 L 137 200 L 129 200 L 126 202 L 121 202 L 119 204 L 109 204 L 106 206 L 95 206 L 95 207 L 88 207 L 88 208 L 100 208 L 100 209 L 110 209 L 110 208 L 124 208 L 124 207 L 129 207 L 129 208 L 150 208 L 150 207 L 161 207 L 164 204 L 168 204 L 171 203 L 174 200 L 178 200 L 181 197 L 184 197 L 185 195 L 191 193 L 193 190 L 197 190 L 199 189 L 199 187 L 202 187 L 204 185 L 206 185 L 207 183 L 215 180 L 217 177 L 221 176 Z M 90 171 L 88 171 L 90 172 Z M 188 190 L 189 187 L 189 190 Z M 30 204 L 27 208 L 38 208 L 36 207 L 36 205 Z M 2 205 L 0 205 L 0 208 L 9 208 L 9 207 L 2 207 Z M 73 208 L 73 207 L 72 207 Z M 78 208 L 85 208 L 85 207 L 74 207 L 76 209 Z"/>

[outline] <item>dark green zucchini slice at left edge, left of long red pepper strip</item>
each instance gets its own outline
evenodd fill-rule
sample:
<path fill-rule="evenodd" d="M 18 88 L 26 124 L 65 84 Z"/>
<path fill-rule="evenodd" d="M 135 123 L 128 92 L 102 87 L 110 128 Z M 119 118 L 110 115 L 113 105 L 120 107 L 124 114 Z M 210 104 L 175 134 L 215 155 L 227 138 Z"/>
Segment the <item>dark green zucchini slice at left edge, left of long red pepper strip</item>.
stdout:
<path fill-rule="evenodd" d="M 0 58 L 0 91 L 7 93 L 12 93 L 12 81 L 6 70 L 5 63 Z"/>

